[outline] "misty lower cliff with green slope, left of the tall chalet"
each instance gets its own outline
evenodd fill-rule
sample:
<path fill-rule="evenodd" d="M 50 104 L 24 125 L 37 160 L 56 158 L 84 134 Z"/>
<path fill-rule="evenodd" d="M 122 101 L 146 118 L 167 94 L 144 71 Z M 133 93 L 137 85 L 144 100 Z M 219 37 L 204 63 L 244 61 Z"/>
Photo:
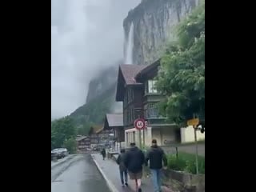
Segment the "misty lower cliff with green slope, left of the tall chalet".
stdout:
<path fill-rule="evenodd" d="M 107 113 L 122 109 L 122 106 L 117 106 L 114 102 L 118 65 L 121 63 L 121 61 L 117 62 L 116 65 L 102 70 L 90 81 L 86 104 L 70 114 L 76 126 L 82 127 L 89 122 L 102 124 Z"/>

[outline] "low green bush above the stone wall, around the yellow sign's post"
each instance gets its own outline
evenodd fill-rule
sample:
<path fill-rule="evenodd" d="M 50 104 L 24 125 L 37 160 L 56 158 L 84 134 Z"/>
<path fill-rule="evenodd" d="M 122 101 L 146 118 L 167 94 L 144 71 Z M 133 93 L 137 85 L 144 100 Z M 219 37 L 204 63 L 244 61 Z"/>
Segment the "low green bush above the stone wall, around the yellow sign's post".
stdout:
<path fill-rule="evenodd" d="M 196 174 L 195 155 L 178 153 L 178 158 L 175 154 L 167 155 L 168 168 L 171 170 L 185 171 L 190 174 Z M 199 174 L 205 174 L 205 158 L 198 156 L 198 171 Z"/>

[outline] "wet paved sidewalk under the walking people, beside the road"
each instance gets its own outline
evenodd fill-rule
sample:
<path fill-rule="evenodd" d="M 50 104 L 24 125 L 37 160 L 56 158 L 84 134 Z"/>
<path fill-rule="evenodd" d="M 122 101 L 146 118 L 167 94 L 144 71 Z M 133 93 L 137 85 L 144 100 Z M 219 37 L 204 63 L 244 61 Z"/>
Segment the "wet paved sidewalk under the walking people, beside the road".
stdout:
<path fill-rule="evenodd" d="M 112 159 L 105 159 L 103 161 L 101 154 L 91 154 L 98 170 L 102 173 L 103 178 L 106 179 L 108 186 L 112 192 L 134 192 L 135 184 L 134 181 L 131 181 L 128 176 L 128 185 L 129 187 L 122 187 L 118 165 Z M 150 178 L 142 178 L 142 192 L 154 192 L 154 187 Z M 170 190 L 169 190 L 170 191 Z M 162 190 L 162 192 L 169 192 L 167 190 Z"/>

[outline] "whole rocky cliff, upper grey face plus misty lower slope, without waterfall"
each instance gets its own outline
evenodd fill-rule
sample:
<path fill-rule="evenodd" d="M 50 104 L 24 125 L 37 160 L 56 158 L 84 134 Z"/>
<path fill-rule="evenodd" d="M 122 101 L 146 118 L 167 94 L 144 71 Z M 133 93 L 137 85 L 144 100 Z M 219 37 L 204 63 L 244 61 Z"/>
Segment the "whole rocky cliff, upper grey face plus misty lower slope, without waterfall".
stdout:
<path fill-rule="evenodd" d="M 142 0 L 130 10 L 123 27 L 127 42 L 134 23 L 134 64 L 150 64 L 158 59 L 166 44 L 174 39 L 174 26 L 197 5 L 198 0 Z M 86 104 L 70 114 L 78 126 L 86 122 L 100 124 L 106 113 L 122 109 L 114 102 L 117 72 L 118 65 L 114 65 L 90 81 Z"/>

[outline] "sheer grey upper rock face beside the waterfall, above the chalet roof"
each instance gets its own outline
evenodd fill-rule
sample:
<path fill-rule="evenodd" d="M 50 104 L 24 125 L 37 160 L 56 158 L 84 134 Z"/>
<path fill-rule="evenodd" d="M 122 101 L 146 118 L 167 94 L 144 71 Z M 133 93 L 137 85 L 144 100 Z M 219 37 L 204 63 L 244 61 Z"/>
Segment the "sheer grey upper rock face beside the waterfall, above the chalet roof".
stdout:
<path fill-rule="evenodd" d="M 134 24 L 134 64 L 150 64 L 160 57 L 168 42 L 174 40 L 174 26 L 198 0 L 143 0 L 130 10 L 123 22 L 126 41 Z"/>

